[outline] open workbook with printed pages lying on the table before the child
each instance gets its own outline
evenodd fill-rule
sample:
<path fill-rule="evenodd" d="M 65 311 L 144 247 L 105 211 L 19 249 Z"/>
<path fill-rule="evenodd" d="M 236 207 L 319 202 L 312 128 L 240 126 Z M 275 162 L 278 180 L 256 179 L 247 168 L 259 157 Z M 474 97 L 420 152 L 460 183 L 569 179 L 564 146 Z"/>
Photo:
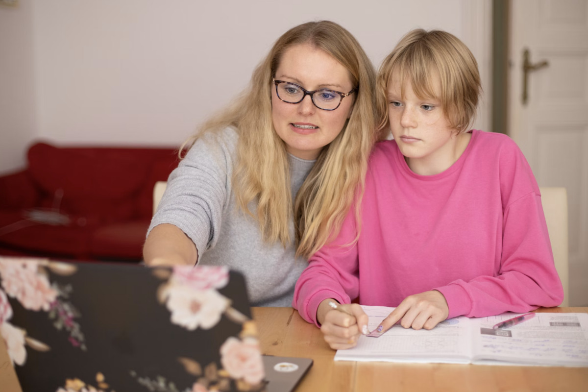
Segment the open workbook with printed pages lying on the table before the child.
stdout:
<path fill-rule="evenodd" d="M 394 309 L 362 307 L 370 330 Z M 361 336 L 353 349 L 338 350 L 335 360 L 588 366 L 588 314 L 537 313 L 516 326 L 492 329 L 517 315 L 456 317 L 432 330 L 396 325 L 380 337 Z"/>

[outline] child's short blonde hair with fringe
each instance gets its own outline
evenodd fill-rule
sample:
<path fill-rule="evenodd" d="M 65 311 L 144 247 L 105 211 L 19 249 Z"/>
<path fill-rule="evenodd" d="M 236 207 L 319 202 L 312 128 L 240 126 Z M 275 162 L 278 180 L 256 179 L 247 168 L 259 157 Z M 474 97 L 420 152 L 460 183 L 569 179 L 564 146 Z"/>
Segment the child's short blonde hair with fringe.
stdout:
<path fill-rule="evenodd" d="M 440 96 L 433 86 L 439 75 Z M 381 130 L 390 128 L 387 88 L 392 76 L 410 81 L 421 98 L 439 99 L 452 128 L 465 132 L 472 126 L 482 86 L 477 62 L 465 43 L 445 31 L 415 29 L 400 39 L 396 48 L 380 65 L 376 82 L 376 105 Z M 400 86 L 404 96 L 405 86 Z"/>

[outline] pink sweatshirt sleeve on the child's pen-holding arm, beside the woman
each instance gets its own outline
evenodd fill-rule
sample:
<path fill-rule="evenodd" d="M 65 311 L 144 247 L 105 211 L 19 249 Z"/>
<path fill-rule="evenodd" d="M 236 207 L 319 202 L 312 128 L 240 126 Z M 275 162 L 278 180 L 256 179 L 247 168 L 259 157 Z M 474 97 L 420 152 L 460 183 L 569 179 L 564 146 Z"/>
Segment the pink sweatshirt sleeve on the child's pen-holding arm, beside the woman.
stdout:
<path fill-rule="evenodd" d="M 333 242 L 310 257 L 308 267 L 300 275 L 292 306 L 309 323 L 315 323 L 319 304 L 328 298 L 350 303 L 359 295 L 358 244 L 355 212 L 350 209 Z"/>

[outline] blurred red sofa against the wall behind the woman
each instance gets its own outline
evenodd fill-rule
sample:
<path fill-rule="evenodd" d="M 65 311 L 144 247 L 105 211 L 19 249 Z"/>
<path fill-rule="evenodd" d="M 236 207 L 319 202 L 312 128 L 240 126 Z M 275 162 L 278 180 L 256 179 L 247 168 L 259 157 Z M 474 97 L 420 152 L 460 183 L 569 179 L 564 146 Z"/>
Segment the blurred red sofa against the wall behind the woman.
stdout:
<path fill-rule="evenodd" d="M 141 260 L 153 186 L 177 165 L 173 148 L 35 143 L 0 176 L 0 254 Z"/>

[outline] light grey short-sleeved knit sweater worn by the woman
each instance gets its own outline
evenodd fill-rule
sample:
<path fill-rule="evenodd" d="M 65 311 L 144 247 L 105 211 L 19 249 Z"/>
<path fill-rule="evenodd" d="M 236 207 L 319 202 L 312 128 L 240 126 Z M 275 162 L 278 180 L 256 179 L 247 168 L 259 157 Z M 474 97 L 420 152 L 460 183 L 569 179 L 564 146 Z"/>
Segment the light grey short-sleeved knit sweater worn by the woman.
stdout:
<path fill-rule="evenodd" d="M 198 139 L 173 170 L 149 232 L 161 223 L 179 227 L 196 245 L 198 264 L 224 265 L 245 275 L 252 306 L 291 306 L 307 262 L 294 256 L 293 244 L 284 249 L 264 242 L 258 222 L 238 209 L 231 182 L 238 135 L 228 128 L 219 136 Z M 289 161 L 294 198 L 315 161 L 292 155 Z M 289 229 L 294 238 L 292 222 Z"/>

